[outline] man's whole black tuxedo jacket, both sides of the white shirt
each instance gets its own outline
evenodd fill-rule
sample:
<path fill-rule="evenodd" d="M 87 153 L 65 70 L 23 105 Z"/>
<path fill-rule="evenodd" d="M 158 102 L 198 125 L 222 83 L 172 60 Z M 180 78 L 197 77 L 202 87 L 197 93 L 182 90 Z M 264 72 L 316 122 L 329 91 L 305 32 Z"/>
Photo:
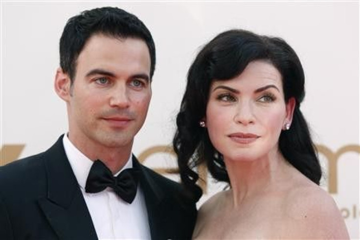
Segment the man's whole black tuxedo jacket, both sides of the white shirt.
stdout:
<path fill-rule="evenodd" d="M 198 199 L 133 158 L 141 172 L 151 238 L 190 239 Z M 62 137 L 44 153 L 0 167 L 0 239 L 97 239 Z"/>

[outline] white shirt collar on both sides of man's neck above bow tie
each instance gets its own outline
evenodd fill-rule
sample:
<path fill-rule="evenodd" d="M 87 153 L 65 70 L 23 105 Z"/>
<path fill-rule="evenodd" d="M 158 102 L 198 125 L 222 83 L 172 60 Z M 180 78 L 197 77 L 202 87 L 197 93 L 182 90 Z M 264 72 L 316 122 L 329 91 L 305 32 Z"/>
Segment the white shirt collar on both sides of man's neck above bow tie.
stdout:
<path fill-rule="evenodd" d="M 64 134 L 63 138 L 65 153 L 67 159 L 70 162 L 72 171 L 75 174 L 76 180 L 80 187 L 85 189 L 86 180 L 90 172 L 93 161 L 86 157 L 74 144 L 67 138 L 67 134 Z M 125 163 L 124 167 L 118 171 L 114 176 L 117 176 L 121 171 L 127 168 L 133 167 L 132 154 L 129 156 L 129 160 Z"/>

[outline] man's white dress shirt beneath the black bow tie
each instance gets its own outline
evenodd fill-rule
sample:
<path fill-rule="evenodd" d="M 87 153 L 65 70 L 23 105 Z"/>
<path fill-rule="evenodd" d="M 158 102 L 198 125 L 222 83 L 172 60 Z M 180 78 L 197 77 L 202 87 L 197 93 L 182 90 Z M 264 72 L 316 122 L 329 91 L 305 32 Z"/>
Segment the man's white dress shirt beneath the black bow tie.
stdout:
<path fill-rule="evenodd" d="M 131 204 L 118 197 L 109 187 L 99 193 L 86 193 L 86 180 L 93 161 L 81 153 L 66 134 L 63 143 L 72 171 L 88 206 L 97 237 L 102 240 L 151 239 L 145 200 L 140 187 L 137 186 L 136 197 Z M 125 166 L 114 176 L 132 167 L 133 161 L 130 156 Z"/>

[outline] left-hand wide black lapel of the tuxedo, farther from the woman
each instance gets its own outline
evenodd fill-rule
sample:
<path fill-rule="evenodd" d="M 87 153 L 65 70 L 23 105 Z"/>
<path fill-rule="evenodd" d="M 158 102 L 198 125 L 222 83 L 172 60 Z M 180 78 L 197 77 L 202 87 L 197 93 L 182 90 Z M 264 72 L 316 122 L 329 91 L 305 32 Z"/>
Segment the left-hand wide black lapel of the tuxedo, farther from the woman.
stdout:
<path fill-rule="evenodd" d="M 39 199 L 39 205 L 60 239 L 95 240 L 95 228 L 67 160 L 62 137 L 44 153 L 47 198 Z"/>

